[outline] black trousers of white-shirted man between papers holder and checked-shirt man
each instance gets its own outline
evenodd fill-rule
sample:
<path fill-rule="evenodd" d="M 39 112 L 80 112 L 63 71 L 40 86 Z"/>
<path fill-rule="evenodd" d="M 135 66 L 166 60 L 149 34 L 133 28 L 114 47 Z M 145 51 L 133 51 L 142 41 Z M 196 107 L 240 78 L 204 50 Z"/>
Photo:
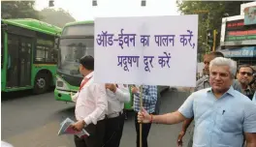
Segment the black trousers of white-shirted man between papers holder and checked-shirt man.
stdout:
<path fill-rule="evenodd" d="M 119 147 L 124 125 L 124 113 L 106 120 L 104 147 Z"/>

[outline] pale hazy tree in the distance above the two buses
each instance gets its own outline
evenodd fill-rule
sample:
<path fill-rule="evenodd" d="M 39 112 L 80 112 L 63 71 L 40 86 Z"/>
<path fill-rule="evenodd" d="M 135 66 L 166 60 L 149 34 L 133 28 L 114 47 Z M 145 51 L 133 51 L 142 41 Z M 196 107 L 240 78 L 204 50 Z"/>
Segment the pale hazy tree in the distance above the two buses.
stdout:
<path fill-rule="evenodd" d="M 63 9 L 44 9 L 40 12 L 40 15 L 43 16 L 42 21 L 48 22 L 49 24 L 56 25 L 58 27 L 63 27 L 68 22 L 76 21 L 76 19 L 70 15 L 68 12 L 65 12 Z"/>

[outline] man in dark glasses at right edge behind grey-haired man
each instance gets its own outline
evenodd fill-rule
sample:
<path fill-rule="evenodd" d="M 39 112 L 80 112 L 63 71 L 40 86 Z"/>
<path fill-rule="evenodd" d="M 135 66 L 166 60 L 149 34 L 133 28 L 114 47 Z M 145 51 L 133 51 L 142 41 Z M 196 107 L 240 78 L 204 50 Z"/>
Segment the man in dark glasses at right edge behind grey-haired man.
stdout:
<path fill-rule="evenodd" d="M 249 85 L 253 80 L 253 73 L 254 70 L 248 65 L 240 66 L 237 73 L 237 78 L 240 81 L 242 93 L 250 100 L 252 100 L 253 94 L 255 92 L 255 90 Z"/>

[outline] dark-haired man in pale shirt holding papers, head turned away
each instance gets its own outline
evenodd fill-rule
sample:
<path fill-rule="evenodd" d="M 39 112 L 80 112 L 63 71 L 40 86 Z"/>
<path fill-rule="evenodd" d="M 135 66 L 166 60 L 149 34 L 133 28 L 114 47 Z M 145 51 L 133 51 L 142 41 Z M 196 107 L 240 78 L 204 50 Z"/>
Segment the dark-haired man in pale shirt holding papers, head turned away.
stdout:
<path fill-rule="evenodd" d="M 80 59 L 80 73 L 84 76 L 79 92 L 72 96 L 76 102 L 77 123 L 73 129 L 81 131 L 84 127 L 89 137 L 80 138 L 75 135 L 76 147 L 102 147 L 106 128 L 108 100 L 104 84 L 93 82 L 94 58 L 83 56 Z"/>

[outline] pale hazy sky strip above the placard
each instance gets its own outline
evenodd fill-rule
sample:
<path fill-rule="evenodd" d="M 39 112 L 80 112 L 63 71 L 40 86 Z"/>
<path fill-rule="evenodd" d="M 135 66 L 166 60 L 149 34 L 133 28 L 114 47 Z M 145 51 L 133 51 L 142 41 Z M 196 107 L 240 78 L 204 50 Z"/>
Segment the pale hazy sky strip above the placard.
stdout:
<path fill-rule="evenodd" d="M 144 16 L 179 15 L 176 0 L 97 0 L 98 6 L 92 7 L 92 0 L 54 0 L 53 8 L 68 11 L 76 20 L 93 20 L 97 16 Z M 48 0 L 36 0 L 35 9 L 48 7 Z"/>

